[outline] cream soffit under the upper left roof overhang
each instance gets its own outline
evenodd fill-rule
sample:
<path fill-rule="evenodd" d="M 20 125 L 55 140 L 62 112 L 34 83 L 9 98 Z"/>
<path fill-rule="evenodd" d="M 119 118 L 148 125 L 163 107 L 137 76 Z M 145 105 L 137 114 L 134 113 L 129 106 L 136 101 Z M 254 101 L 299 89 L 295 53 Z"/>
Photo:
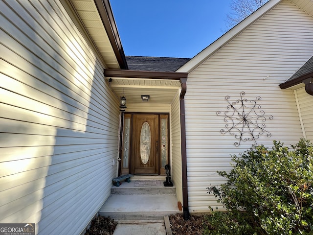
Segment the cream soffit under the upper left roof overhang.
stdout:
<path fill-rule="evenodd" d="M 119 63 L 109 36 L 98 13 L 94 0 L 70 0 L 80 20 L 84 24 L 94 45 L 110 69 L 119 69 Z"/>

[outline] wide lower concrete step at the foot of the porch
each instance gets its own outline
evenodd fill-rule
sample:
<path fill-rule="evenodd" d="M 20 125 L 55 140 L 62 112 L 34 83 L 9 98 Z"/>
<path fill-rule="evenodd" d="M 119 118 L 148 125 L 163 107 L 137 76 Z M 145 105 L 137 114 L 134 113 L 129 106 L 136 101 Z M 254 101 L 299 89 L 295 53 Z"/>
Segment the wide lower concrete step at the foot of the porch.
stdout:
<path fill-rule="evenodd" d="M 114 220 L 156 220 L 180 212 L 175 194 L 111 194 L 99 214 Z"/>

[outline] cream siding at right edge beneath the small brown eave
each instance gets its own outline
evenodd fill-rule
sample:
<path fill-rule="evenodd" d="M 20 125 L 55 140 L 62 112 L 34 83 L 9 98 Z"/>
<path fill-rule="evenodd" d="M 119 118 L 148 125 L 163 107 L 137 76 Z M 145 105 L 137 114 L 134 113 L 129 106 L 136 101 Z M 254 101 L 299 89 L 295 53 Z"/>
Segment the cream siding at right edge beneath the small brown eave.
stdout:
<path fill-rule="evenodd" d="M 296 90 L 299 102 L 300 118 L 306 139 L 313 141 L 313 96 L 307 94 L 304 88 Z"/>

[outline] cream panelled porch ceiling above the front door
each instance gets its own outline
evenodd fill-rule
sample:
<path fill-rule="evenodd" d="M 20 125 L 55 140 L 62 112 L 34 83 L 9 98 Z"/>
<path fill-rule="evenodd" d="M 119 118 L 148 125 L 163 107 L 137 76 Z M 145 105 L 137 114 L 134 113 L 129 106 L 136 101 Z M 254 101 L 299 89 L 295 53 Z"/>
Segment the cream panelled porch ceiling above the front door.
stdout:
<path fill-rule="evenodd" d="M 124 95 L 127 103 L 143 102 L 141 95 L 144 94 L 150 95 L 149 104 L 170 104 L 180 89 L 180 82 L 177 80 L 116 77 L 107 77 L 106 79 L 116 96 Z"/>

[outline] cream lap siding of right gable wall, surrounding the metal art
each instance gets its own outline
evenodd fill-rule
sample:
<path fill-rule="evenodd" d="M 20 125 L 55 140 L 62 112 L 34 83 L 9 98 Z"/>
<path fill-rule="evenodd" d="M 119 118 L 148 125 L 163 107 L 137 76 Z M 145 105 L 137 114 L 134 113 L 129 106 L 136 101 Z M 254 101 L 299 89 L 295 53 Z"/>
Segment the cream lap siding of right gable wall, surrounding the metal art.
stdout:
<path fill-rule="evenodd" d="M 206 188 L 224 182 L 217 170 L 230 170 L 232 154 L 251 147 L 237 141 L 225 129 L 223 116 L 228 103 L 240 98 L 261 97 L 257 104 L 266 116 L 266 130 L 258 144 L 271 146 L 273 140 L 296 143 L 302 137 L 295 97 L 281 90 L 285 82 L 313 54 L 313 19 L 289 1 L 283 1 L 256 23 L 222 47 L 188 75 L 186 107 L 188 199 L 190 212 L 216 207 L 216 198 Z M 311 121 L 312 122 L 312 121 Z"/>

